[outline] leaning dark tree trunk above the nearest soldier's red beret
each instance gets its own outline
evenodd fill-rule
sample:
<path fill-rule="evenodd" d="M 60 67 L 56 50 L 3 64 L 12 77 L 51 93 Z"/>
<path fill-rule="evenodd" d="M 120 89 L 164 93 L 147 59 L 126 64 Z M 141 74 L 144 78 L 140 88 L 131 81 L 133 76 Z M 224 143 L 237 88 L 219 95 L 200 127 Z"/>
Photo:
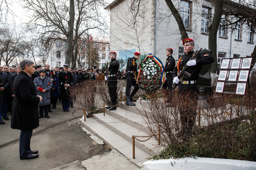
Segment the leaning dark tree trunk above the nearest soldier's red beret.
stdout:
<path fill-rule="evenodd" d="M 176 9 L 176 7 L 174 6 L 174 4 L 172 3 L 171 0 L 165 0 L 167 6 L 170 8 L 172 15 L 174 16 L 178 27 L 180 29 L 180 33 L 181 33 L 181 40 L 188 38 L 184 23 L 182 21 L 182 18 L 180 16 L 180 13 L 178 12 L 178 10 Z"/>

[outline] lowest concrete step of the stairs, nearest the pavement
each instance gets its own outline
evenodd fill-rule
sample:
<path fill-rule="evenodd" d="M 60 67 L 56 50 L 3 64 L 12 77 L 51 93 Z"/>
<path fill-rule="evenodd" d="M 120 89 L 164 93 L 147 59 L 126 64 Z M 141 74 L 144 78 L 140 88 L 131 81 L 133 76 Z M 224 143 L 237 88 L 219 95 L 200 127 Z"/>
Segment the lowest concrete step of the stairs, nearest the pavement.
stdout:
<path fill-rule="evenodd" d="M 121 124 L 125 124 L 122 121 L 119 121 L 119 123 L 120 126 L 122 126 Z M 127 141 L 125 138 L 119 136 L 112 130 L 108 129 L 106 126 L 104 126 L 102 123 L 98 122 L 94 118 L 86 118 L 86 121 L 84 121 L 84 119 L 80 119 L 79 124 L 84 126 L 87 130 L 91 131 L 92 134 L 101 138 L 111 148 L 117 149 L 130 161 L 137 164 L 138 166 L 141 166 L 142 163 L 146 162 L 148 160 L 147 158 L 150 157 L 149 154 L 145 153 L 144 151 L 142 151 L 142 149 L 135 146 L 135 159 L 133 159 L 132 143 Z"/>

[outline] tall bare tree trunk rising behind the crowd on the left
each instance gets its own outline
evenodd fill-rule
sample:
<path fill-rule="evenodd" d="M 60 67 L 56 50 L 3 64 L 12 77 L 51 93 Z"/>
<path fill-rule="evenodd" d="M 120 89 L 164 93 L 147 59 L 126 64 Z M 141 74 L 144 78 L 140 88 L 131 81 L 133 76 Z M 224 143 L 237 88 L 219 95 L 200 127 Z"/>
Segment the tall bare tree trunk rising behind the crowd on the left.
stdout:
<path fill-rule="evenodd" d="M 67 35 L 67 49 L 66 49 L 66 58 L 65 64 L 69 64 L 73 59 L 73 36 L 74 36 L 74 21 L 75 21 L 75 3 L 74 0 L 70 0 L 69 2 L 70 10 L 69 10 L 69 22 L 68 22 L 68 35 Z"/>

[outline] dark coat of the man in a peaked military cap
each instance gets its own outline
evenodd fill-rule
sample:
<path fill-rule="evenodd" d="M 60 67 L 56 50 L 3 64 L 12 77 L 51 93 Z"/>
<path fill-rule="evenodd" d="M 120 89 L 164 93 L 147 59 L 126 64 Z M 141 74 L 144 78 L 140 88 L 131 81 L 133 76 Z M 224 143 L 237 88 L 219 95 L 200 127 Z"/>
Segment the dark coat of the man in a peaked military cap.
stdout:
<path fill-rule="evenodd" d="M 62 98 L 62 100 L 66 100 L 70 98 L 69 89 L 73 83 L 73 77 L 71 74 L 72 73 L 68 71 L 66 73 L 64 71 L 59 73 L 60 97 Z M 68 77 L 68 78 L 65 78 L 65 77 Z M 67 88 L 68 94 L 66 92 L 64 84 L 69 84 L 69 87 Z"/>

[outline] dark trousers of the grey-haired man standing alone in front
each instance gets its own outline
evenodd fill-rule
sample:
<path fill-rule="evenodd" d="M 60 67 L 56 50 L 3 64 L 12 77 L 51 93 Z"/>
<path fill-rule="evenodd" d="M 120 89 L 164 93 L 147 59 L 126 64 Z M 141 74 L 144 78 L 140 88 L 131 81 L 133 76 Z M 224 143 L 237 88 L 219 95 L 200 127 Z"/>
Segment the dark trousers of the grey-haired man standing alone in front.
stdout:
<path fill-rule="evenodd" d="M 20 132 L 20 156 L 31 154 L 30 140 L 33 130 L 21 130 Z"/>

